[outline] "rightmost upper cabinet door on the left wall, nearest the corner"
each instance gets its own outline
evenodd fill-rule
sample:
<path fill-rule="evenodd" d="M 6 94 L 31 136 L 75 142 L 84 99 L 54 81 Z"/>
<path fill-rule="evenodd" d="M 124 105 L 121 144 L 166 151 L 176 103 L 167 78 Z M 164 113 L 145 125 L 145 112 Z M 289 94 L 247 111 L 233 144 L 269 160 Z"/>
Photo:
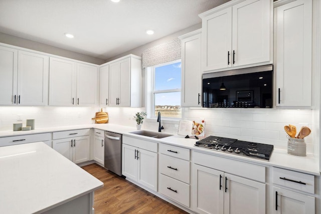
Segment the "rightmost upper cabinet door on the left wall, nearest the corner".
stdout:
<path fill-rule="evenodd" d="M 77 105 L 96 105 L 97 85 L 97 67 L 77 63 Z"/>

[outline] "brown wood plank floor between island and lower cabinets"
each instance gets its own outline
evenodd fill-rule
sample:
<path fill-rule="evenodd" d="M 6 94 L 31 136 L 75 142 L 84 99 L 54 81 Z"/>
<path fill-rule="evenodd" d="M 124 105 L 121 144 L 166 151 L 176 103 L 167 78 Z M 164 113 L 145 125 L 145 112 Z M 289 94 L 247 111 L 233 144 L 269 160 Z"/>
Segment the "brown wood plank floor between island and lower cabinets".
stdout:
<path fill-rule="evenodd" d="M 95 163 L 82 168 L 104 183 L 95 191 L 95 214 L 187 213 Z"/>

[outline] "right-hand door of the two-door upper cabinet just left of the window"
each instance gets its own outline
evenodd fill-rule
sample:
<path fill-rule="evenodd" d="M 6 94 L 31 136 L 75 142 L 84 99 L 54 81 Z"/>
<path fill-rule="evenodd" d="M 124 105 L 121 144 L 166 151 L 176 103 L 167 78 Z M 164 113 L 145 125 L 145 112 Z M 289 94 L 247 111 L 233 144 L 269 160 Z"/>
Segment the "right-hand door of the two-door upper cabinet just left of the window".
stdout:
<path fill-rule="evenodd" d="M 118 106 L 130 106 L 130 58 L 120 61 Z"/>

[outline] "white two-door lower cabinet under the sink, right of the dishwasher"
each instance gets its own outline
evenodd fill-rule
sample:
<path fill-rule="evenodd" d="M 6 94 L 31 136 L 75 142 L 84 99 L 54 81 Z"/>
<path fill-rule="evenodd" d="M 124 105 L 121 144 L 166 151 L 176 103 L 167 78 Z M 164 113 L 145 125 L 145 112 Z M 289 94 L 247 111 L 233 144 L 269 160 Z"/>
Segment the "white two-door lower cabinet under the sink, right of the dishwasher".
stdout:
<path fill-rule="evenodd" d="M 151 190 L 157 191 L 158 154 L 156 152 L 124 144 L 128 139 L 132 144 L 135 144 L 135 142 L 139 144 L 140 141 L 136 138 L 130 140 L 130 138 L 123 136 L 122 174 Z M 141 141 L 144 142 L 144 140 Z M 148 143 L 153 144 L 153 142 Z M 157 148 L 157 143 L 155 144 Z"/>

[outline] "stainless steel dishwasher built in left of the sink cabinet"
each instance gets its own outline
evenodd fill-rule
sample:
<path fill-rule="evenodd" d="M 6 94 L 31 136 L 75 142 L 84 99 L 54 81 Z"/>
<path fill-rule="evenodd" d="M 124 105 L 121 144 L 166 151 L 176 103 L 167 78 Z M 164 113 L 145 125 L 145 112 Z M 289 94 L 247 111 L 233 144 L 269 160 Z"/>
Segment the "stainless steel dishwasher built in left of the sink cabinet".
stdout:
<path fill-rule="evenodd" d="M 122 135 L 105 131 L 105 168 L 121 176 Z"/>

